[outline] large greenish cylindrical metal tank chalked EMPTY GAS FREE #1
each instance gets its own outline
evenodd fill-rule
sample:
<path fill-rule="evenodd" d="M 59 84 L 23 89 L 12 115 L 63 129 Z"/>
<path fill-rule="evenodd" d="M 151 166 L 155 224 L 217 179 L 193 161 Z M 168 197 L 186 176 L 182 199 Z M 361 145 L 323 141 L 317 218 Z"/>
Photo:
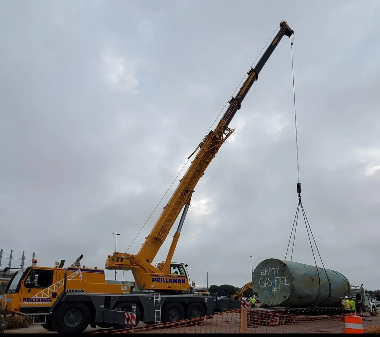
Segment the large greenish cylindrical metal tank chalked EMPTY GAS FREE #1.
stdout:
<path fill-rule="evenodd" d="M 252 286 L 259 301 L 279 307 L 335 306 L 350 290 L 350 282 L 337 271 L 279 259 L 259 263 Z"/>

